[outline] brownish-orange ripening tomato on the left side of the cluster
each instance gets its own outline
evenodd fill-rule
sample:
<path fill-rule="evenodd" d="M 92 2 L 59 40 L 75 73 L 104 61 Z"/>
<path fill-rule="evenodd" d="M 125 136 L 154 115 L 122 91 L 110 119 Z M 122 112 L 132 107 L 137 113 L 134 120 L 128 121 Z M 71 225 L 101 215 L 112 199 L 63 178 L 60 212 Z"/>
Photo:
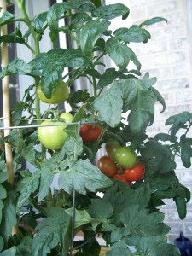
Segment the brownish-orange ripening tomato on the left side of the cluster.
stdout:
<path fill-rule="evenodd" d="M 102 156 L 97 161 L 97 166 L 102 171 L 102 173 L 108 177 L 113 177 L 118 172 L 117 166 L 108 155 Z"/>

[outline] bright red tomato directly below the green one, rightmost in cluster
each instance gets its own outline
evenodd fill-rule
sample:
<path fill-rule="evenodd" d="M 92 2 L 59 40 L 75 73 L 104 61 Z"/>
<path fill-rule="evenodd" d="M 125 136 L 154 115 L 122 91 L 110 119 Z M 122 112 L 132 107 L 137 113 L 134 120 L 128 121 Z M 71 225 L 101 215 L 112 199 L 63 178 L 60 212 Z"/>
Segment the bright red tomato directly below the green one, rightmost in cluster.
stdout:
<path fill-rule="evenodd" d="M 140 162 L 137 162 L 136 166 L 124 170 L 124 176 L 129 181 L 139 181 L 144 177 L 144 174 L 145 167 Z"/>

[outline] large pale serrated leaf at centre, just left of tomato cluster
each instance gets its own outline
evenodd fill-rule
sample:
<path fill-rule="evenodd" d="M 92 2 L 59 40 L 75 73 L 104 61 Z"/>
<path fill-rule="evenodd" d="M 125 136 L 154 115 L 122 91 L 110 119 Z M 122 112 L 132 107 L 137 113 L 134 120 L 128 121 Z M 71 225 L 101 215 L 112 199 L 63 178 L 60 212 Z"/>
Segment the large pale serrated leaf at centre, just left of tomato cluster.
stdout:
<path fill-rule="evenodd" d="M 87 190 L 96 192 L 96 189 L 109 187 L 113 182 L 89 160 L 75 161 L 67 171 L 61 173 L 59 180 L 60 189 L 71 194 L 73 188 L 80 194 L 86 194 Z"/>

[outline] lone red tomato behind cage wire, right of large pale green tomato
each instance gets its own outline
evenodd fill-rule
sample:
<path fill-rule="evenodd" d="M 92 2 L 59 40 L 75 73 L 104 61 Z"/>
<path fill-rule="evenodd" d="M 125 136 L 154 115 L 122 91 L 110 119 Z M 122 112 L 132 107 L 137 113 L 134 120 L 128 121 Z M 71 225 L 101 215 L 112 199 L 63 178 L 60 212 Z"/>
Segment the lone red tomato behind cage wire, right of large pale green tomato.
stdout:
<path fill-rule="evenodd" d="M 101 134 L 102 127 L 99 125 L 83 125 L 80 128 L 80 136 L 84 143 L 91 143 L 92 141 L 97 140 Z"/>

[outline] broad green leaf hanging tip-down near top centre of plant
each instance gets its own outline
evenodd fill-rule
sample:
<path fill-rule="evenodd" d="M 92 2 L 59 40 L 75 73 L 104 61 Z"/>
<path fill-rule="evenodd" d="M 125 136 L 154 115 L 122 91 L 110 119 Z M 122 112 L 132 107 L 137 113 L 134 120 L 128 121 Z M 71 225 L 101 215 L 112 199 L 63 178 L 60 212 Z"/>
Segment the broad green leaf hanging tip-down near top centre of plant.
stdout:
<path fill-rule="evenodd" d="M 96 41 L 108 30 L 108 20 L 89 20 L 79 33 L 80 47 L 84 55 L 90 56 Z"/>

